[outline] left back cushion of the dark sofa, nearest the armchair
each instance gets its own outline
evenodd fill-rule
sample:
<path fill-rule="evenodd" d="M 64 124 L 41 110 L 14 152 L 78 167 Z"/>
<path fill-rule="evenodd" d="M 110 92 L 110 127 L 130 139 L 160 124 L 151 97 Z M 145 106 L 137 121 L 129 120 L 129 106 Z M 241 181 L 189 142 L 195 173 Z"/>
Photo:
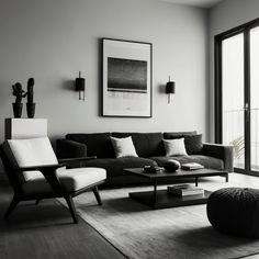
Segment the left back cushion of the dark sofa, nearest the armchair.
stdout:
<path fill-rule="evenodd" d="M 110 133 L 67 134 L 66 138 L 82 143 L 87 146 L 88 156 L 98 158 L 114 158 L 114 149 L 110 139 Z"/>

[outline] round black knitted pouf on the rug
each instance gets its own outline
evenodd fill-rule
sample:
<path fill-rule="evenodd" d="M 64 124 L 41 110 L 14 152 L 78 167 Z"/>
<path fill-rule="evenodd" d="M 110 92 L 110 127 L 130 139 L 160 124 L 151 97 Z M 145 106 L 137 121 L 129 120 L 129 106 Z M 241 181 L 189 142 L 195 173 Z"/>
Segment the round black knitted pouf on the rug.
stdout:
<path fill-rule="evenodd" d="M 259 190 L 224 188 L 207 200 L 207 218 L 213 227 L 229 235 L 259 237 Z"/>

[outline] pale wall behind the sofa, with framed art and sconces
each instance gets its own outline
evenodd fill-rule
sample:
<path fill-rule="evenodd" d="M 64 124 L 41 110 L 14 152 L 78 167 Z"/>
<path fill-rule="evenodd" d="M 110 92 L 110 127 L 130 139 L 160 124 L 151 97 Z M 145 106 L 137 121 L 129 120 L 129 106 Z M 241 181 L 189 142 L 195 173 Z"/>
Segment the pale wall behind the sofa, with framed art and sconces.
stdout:
<path fill-rule="evenodd" d="M 3 119 L 13 116 L 11 86 L 25 87 L 30 77 L 36 117 L 48 119 L 52 138 L 105 131 L 207 133 L 203 9 L 148 0 L 0 0 L 0 140 Z M 153 43 L 151 119 L 99 116 L 101 37 Z M 79 70 L 87 78 L 85 102 L 69 89 Z M 169 75 L 177 83 L 170 105 L 161 93 Z"/>

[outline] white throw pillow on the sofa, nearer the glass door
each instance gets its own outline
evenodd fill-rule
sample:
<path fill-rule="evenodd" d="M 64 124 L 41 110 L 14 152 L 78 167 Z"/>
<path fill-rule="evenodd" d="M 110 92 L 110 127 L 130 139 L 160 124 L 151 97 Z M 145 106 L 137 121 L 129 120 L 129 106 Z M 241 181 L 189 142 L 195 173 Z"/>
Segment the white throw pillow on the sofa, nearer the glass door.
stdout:
<path fill-rule="evenodd" d="M 166 156 L 187 156 L 187 149 L 184 145 L 184 138 L 177 138 L 177 139 L 162 139 Z"/>

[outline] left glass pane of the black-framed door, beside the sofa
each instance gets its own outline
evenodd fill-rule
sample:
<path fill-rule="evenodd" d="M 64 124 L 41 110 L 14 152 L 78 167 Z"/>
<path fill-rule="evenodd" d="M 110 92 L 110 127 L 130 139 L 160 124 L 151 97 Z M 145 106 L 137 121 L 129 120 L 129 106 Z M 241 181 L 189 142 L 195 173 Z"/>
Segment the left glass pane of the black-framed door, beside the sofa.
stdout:
<path fill-rule="evenodd" d="M 234 166 L 245 168 L 244 34 L 222 42 L 223 143 L 234 146 Z"/>

